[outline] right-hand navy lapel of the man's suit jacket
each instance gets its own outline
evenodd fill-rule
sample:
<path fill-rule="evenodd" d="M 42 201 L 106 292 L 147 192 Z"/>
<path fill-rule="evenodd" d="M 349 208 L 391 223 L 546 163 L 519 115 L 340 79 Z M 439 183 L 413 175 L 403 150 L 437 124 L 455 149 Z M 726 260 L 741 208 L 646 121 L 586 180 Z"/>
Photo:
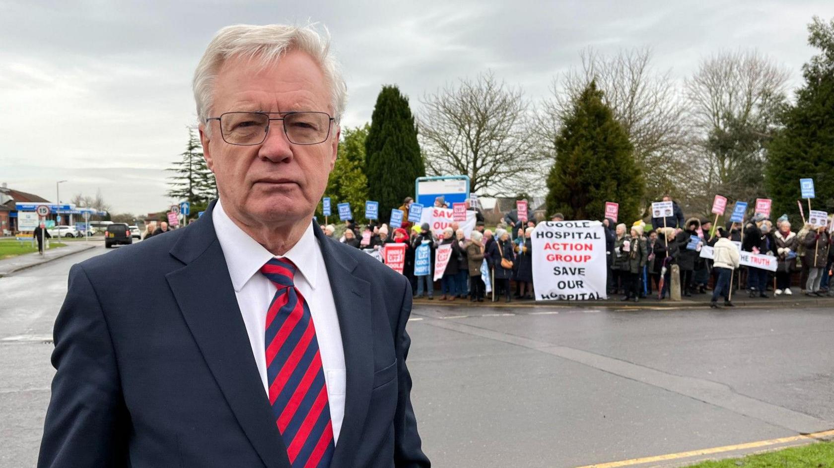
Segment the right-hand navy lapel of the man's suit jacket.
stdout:
<path fill-rule="evenodd" d="M 370 284 L 354 276 L 357 261 L 342 252 L 314 222 L 314 233 L 324 256 L 342 332 L 347 375 L 344 420 L 331 466 L 350 466 L 361 443 L 374 384 L 374 334 L 371 329 Z"/>

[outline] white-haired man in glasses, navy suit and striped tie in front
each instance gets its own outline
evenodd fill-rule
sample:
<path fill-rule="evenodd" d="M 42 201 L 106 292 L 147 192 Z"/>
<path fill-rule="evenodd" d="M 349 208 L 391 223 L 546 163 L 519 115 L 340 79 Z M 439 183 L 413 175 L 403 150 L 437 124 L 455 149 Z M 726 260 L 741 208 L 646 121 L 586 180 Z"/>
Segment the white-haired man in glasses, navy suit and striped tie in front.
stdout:
<path fill-rule="evenodd" d="M 38 466 L 428 467 L 411 288 L 313 214 L 346 87 L 312 28 L 229 26 L 194 73 L 219 199 L 73 266 Z"/>

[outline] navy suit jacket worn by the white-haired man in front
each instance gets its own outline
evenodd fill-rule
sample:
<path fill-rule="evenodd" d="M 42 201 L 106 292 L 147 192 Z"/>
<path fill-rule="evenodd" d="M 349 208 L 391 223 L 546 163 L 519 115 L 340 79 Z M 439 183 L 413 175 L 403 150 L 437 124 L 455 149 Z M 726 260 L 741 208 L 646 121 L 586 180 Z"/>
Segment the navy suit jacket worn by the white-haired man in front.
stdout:
<path fill-rule="evenodd" d="M 213 208 L 185 229 L 73 266 L 39 467 L 289 468 Z M 409 282 L 314 231 L 347 371 L 331 466 L 428 467 L 405 366 Z"/>

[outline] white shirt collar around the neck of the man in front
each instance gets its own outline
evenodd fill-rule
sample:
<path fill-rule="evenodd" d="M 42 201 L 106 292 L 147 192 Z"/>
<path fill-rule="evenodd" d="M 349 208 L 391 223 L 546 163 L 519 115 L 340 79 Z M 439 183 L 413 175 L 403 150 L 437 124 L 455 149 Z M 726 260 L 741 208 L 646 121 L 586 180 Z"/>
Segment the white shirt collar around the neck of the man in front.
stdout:
<path fill-rule="evenodd" d="M 292 249 L 282 255 L 273 255 L 264 246 L 258 244 L 255 239 L 249 237 L 243 229 L 240 229 L 223 209 L 223 204 L 218 199 L 212 213 L 214 231 L 220 248 L 223 249 L 226 265 L 229 267 L 229 276 L 232 279 L 232 286 L 236 292 L 244 289 L 254 274 L 259 271 L 270 259 L 286 258 L 293 262 L 299 272 L 312 289 L 318 285 L 318 262 L 310 261 L 310 254 L 319 249 L 318 239 L 313 233 L 313 221 L 304 230 L 301 239 Z"/>

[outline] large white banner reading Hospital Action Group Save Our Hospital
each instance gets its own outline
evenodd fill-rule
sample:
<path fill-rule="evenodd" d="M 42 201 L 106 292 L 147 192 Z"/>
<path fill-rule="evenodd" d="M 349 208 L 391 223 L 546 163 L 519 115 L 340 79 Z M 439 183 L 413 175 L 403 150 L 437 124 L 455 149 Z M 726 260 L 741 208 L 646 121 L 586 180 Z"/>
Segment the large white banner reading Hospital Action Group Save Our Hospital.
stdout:
<path fill-rule="evenodd" d="M 545 221 L 531 237 L 536 300 L 606 299 L 602 223 Z"/>

